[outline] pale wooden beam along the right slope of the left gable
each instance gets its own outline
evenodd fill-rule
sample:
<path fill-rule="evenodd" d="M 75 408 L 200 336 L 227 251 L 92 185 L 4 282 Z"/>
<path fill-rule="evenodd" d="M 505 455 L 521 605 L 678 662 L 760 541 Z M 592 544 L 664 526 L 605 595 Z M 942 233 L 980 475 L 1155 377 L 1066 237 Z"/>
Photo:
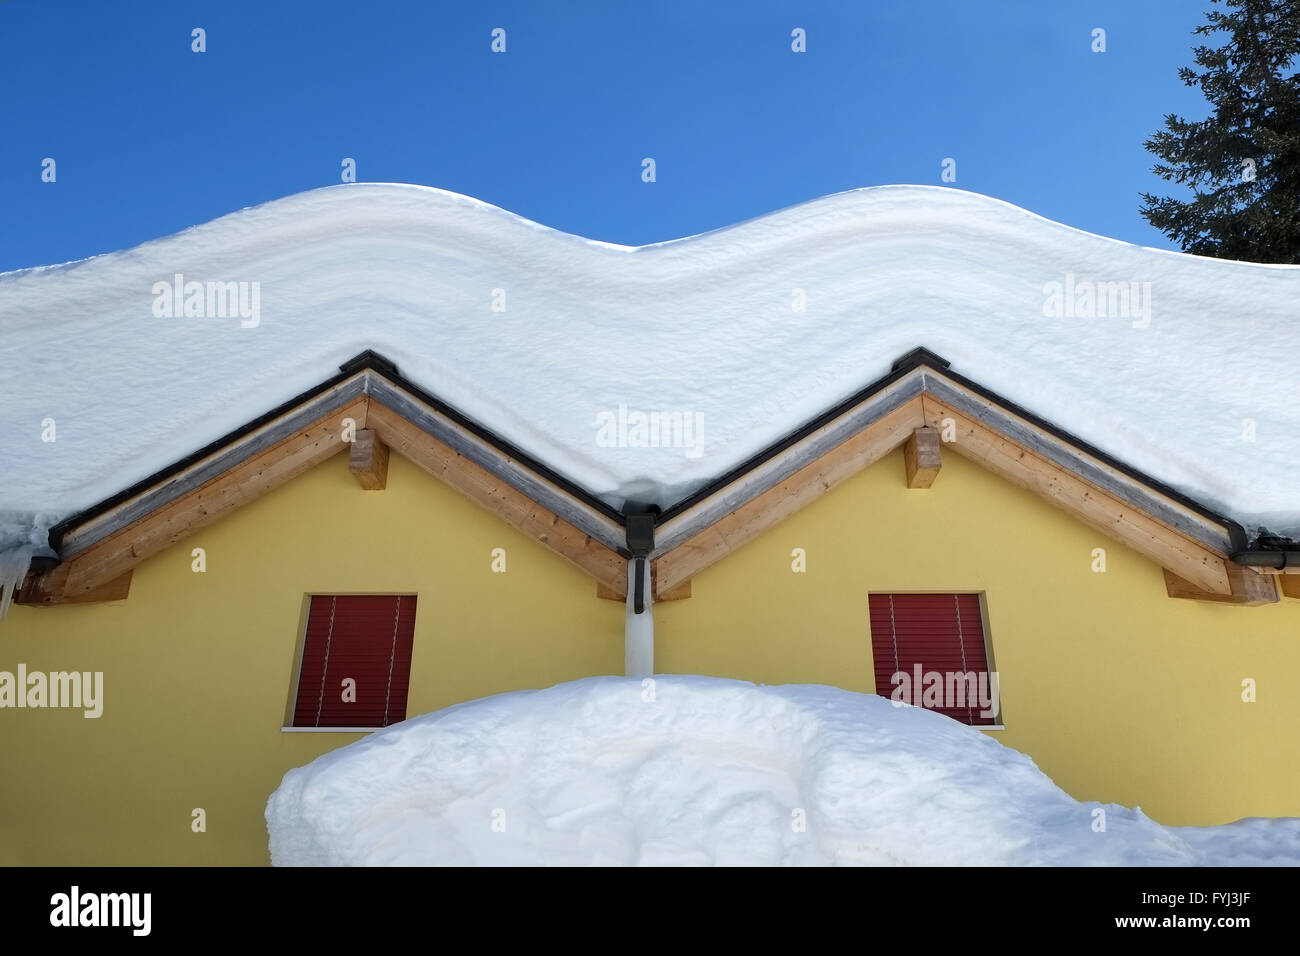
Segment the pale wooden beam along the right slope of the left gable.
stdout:
<path fill-rule="evenodd" d="M 373 428 L 394 451 L 478 502 L 507 524 L 541 541 L 597 581 L 615 591 L 627 589 L 628 562 L 618 551 L 538 505 L 399 412 L 372 398 L 367 427 Z"/>

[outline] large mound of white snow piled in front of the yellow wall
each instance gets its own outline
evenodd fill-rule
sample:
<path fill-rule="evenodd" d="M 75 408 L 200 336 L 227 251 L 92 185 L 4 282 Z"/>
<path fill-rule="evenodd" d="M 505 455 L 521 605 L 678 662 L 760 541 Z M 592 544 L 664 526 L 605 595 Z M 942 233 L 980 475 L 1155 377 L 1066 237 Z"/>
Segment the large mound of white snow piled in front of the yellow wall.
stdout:
<path fill-rule="evenodd" d="M 1300 864 L 1300 819 L 1169 829 L 931 711 L 694 676 L 394 724 L 290 770 L 266 825 L 280 866 Z"/>

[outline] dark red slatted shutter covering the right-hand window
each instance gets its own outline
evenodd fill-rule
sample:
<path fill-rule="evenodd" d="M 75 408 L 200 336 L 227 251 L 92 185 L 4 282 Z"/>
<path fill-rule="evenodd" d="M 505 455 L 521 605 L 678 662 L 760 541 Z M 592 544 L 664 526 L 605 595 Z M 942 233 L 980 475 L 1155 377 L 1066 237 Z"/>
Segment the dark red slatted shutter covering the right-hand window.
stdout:
<path fill-rule="evenodd" d="M 939 672 L 945 689 L 949 674 L 975 674 L 976 692 L 984 675 L 987 693 L 996 702 L 996 688 L 988 679 L 988 652 L 984 639 L 984 617 L 979 594 L 871 594 L 871 657 L 875 665 L 876 693 L 889 697 L 894 693 L 896 672 L 906 674 L 913 685 L 911 702 L 922 705 L 923 685 L 915 680 L 920 672 Z M 980 717 L 976 697 L 967 697 L 965 706 L 930 708 L 956 721 L 970 724 L 993 724 L 994 717 Z"/>

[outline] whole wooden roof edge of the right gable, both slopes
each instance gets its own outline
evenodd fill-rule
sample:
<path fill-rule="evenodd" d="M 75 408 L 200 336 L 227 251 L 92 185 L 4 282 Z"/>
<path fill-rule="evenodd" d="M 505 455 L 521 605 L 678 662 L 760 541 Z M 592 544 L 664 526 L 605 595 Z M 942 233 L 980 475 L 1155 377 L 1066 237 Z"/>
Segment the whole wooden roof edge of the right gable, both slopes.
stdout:
<path fill-rule="evenodd" d="M 959 376 L 930 367 L 896 376 L 759 468 L 670 514 L 663 528 L 656 528 L 660 546 L 651 555 L 659 587 L 689 581 L 844 480 L 914 442 L 918 429 L 937 432 L 944 453 L 976 462 L 1166 568 L 1188 585 L 1179 597 L 1232 604 L 1277 600 L 1269 597 L 1271 588 L 1243 578 L 1227 557 L 1240 549 L 1240 529 L 1231 522 L 971 388 Z M 915 473 L 909 466 L 911 486 Z"/>

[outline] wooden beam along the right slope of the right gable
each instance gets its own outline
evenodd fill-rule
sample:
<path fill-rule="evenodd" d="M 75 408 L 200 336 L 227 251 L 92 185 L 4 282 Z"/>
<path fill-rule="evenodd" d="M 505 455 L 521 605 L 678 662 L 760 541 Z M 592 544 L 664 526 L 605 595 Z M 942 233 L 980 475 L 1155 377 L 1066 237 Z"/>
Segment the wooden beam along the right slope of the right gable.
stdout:
<path fill-rule="evenodd" d="M 948 447 L 984 466 L 1011 484 L 1034 492 L 1084 524 L 1122 541 L 1201 591 L 1231 596 L 1227 558 L 1109 492 L 1062 468 L 1000 432 L 948 406 L 922 397 L 926 420 L 942 429 L 950 419 L 957 440 Z"/>

